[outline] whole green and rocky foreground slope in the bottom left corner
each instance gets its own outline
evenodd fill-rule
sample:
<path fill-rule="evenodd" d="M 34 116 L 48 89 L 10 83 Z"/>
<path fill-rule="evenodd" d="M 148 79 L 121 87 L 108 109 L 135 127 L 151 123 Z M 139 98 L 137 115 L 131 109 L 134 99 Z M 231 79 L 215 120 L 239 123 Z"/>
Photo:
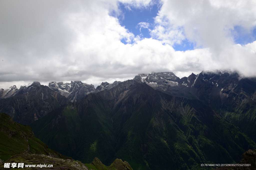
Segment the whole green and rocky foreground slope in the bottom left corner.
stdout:
<path fill-rule="evenodd" d="M 70 157 L 48 148 L 37 139 L 29 126 L 13 122 L 10 116 L 0 113 L 0 167 L 4 163 L 24 163 L 53 165 L 51 169 L 83 169 L 83 170 L 132 170 L 128 162 L 116 159 L 111 166 L 105 166 L 98 158 L 84 165 Z M 24 165 L 24 168 L 25 168 Z M 4 168 L 6 169 L 6 168 Z M 27 169 L 27 168 L 25 168 Z M 30 168 L 41 169 L 41 168 Z M 48 169 L 48 168 L 42 168 Z"/>

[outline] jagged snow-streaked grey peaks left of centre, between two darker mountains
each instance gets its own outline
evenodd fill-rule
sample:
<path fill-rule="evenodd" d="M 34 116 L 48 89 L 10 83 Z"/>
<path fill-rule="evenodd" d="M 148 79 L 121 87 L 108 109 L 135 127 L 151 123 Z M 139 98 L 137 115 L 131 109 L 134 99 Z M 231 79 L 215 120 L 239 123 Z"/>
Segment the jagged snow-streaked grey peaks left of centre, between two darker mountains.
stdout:
<path fill-rule="evenodd" d="M 68 98 L 71 102 L 79 101 L 84 96 L 95 91 L 95 87 L 92 84 L 89 85 L 81 81 L 71 81 L 71 83 L 50 82 L 49 87 Z"/>

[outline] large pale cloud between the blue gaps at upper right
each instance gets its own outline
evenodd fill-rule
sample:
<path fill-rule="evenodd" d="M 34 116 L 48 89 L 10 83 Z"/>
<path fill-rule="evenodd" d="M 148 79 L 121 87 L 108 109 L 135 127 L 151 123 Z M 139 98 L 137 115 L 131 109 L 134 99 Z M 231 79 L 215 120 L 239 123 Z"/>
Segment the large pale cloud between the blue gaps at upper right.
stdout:
<path fill-rule="evenodd" d="M 153 33 L 170 44 L 179 43 L 184 36 L 197 47 L 219 51 L 233 44 L 231 30 L 239 25 L 248 31 L 256 26 L 256 1 L 168 1 L 155 18 Z M 184 36 L 182 36 L 182 35 Z M 178 40 L 177 40 L 178 39 Z"/>

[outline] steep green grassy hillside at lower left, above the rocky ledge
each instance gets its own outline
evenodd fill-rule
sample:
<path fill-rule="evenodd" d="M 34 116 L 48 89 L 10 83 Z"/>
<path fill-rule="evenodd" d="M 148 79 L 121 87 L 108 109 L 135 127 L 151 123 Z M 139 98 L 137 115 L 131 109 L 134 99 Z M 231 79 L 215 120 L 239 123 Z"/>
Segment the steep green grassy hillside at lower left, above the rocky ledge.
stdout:
<path fill-rule="evenodd" d="M 58 158 L 68 158 L 47 147 L 36 138 L 29 126 L 14 122 L 10 116 L 0 113 L 0 159 L 8 160 L 21 153 L 44 154 Z"/>

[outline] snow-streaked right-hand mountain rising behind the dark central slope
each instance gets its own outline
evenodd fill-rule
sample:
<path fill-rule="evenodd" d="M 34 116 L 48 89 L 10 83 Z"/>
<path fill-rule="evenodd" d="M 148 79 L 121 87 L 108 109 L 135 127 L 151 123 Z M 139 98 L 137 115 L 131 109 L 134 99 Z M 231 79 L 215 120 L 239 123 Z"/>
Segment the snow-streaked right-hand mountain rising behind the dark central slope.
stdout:
<path fill-rule="evenodd" d="M 172 96 L 199 100 L 256 140 L 256 81 L 253 78 L 203 71 L 182 79 L 164 72 L 153 78 L 151 74 L 138 75 L 134 80 Z"/>

